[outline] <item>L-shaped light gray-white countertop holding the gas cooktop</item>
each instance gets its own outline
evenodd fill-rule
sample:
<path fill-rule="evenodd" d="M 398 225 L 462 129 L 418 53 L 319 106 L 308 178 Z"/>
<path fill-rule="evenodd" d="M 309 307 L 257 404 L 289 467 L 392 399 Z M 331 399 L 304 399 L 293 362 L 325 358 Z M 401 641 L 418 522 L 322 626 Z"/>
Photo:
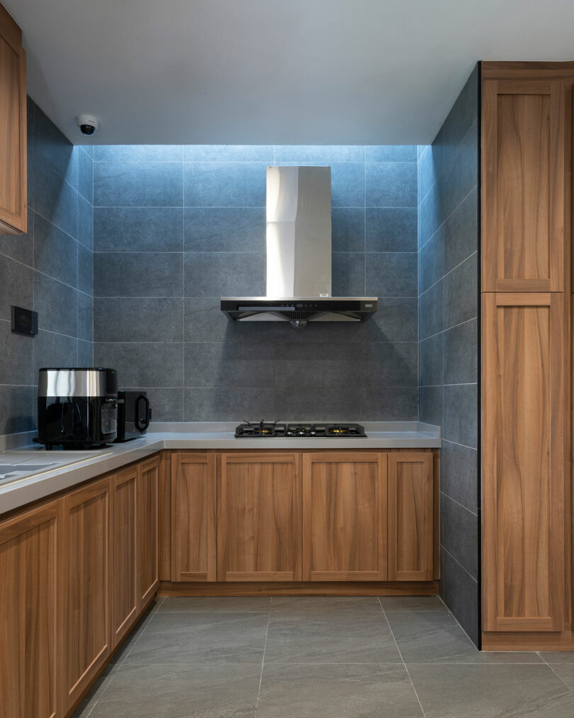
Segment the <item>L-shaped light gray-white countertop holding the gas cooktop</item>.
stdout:
<path fill-rule="evenodd" d="M 161 449 L 422 449 L 439 448 L 438 426 L 418 421 L 372 421 L 363 424 L 367 438 L 235 439 L 239 422 L 154 424 L 141 439 L 90 451 L 46 451 L 32 444 L 0 452 L 1 465 L 17 465 L 0 479 L 0 514 L 45 498 L 88 479 L 145 459 Z M 34 471 L 34 465 L 43 465 Z M 47 466 L 50 465 L 50 466 Z M 27 468 L 30 472 L 27 472 Z M 0 475 L 2 471 L 0 470 Z"/>

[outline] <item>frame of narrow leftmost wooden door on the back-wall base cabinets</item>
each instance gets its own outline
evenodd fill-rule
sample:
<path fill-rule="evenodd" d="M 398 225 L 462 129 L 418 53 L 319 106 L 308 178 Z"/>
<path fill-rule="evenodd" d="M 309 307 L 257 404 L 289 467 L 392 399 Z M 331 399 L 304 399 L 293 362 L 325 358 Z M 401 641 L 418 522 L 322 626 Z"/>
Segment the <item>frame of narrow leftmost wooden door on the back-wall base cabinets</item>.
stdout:
<path fill-rule="evenodd" d="M 183 565 L 181 519 L 178 515 L 178 483 L 182 480 L 182 466 L 196 464 L 205 467 L 206 494 L 206 552 L 205 571 L 189 571 Z M 186 532 L 189 540 L 189 533 Z M 189 568 L 189 567 L 187 567 Z M 215 582 L 217 581 L 217 457 L 210 452 L 174 452 L 171 454 L 171 581 L 172 582 Z"/>

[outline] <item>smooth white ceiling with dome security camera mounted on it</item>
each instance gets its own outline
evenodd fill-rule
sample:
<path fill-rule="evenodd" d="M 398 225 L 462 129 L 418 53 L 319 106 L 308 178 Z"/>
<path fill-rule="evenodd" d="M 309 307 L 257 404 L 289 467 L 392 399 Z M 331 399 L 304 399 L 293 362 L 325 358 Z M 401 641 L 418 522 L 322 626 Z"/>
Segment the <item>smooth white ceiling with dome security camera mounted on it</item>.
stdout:
<path fill-rule="evenodd" d="M 573 0 L 2 0 L 75 144 L 427 144 L 476 60 L 574 60 Z"/>

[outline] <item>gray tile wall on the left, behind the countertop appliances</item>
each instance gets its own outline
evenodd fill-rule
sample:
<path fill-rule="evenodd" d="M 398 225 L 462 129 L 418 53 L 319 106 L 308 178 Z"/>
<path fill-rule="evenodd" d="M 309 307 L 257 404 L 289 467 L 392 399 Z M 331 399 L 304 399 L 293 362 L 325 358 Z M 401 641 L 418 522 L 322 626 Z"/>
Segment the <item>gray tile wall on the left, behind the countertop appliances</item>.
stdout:
<path fill-rule="evenodd" d="M 35 428 L 41 366 L 91 365 L 92 151 L 73 147 L 28 100 L 28 233 L 0 235 L 0 434 Z M 10 306 L 38 312 L 12 334 Z"/>

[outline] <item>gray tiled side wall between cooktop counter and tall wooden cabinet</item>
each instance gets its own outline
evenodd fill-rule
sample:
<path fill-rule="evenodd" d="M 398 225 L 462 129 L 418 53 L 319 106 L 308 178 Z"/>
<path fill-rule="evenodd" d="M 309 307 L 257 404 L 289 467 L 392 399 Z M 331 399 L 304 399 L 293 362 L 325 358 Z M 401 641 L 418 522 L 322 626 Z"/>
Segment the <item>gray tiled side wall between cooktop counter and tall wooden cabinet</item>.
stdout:
<path fill-rule="evenodd" d="M 443 427 L 441 596 L 479 640 L 479 72 L 419 148 L 420 421 Z"/>

